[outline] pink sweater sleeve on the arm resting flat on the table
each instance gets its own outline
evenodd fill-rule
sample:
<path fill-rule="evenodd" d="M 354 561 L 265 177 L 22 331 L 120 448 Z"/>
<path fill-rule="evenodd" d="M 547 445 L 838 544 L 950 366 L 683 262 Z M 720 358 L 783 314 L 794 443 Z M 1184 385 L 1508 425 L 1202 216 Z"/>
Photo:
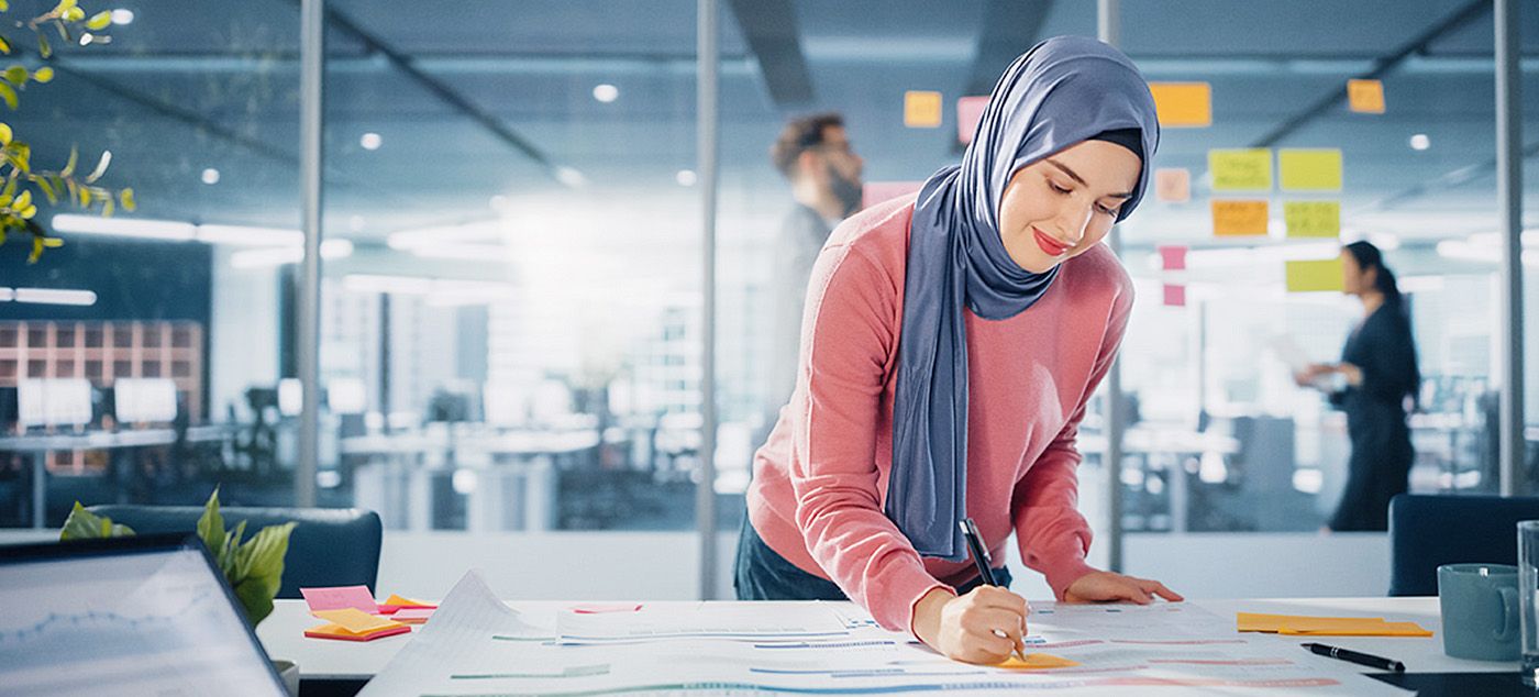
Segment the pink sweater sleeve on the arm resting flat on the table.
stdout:
<path fill-rule="evenodd" d="M 1063 592 L 1082 575 L 1096 571 L 1085 563 L 1090 552 L 1090 523 L 1079 512 L 1079 463 L 1083 457 L 1076 440 L 1079 422 L 1085 417 L 1085 405 L 1096 386 L 1107 377 L 1117 357 L 1122 334 L 1127 329 L 1133 306 L 1131 289 L 1117 298 L 1108 317 L 1107 334 L 1096 354 L 1090 380 L 1079 405 L 1057 437 L 1042 451 L 1042 455 L 1016 483 L 1011 495 L 1011 517 L 1016 525 L 1016 540 L 1020 559 L 1027 566 L 1047 577 L 1053 594 L 1062 600 Z"/>

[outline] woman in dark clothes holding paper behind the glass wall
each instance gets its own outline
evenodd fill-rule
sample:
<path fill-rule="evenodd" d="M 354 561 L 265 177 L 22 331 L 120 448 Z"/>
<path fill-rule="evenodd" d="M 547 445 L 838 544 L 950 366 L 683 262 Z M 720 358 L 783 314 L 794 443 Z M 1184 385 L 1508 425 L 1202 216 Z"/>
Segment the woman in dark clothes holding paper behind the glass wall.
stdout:
<path fill-rule="evenodd" d="M 1322 377 L 1340 375 L 1327 391 L 1331 405 L 1347 412 L 1351 457 L 1330 528 L 1382 532 L 1390 528 L 1390 499 L 1405 492 L 1416 459 L 1405 414 L 1422 372 L 1410 311 L 1379 248 L 1368 242 L 1342 248 L 1342 275 L 1344 291 L 1362 300 L 1362 323 L 1347 337 L 1340 363 L 1313 365 L 1294 379 L 1317 386 L 1333 385 Z"/>

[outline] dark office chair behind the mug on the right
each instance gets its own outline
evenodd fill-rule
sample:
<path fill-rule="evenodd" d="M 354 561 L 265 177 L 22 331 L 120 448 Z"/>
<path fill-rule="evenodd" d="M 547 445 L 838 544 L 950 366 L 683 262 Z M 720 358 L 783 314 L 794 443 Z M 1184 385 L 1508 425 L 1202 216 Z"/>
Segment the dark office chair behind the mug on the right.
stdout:
<path fill-rule="evenodd" d="M 1400 494 L 1390 500 L 1390 595 L 1437 595 L 1437 566 L 1517 563 L 1517 522 L 1539 499 Z"/>

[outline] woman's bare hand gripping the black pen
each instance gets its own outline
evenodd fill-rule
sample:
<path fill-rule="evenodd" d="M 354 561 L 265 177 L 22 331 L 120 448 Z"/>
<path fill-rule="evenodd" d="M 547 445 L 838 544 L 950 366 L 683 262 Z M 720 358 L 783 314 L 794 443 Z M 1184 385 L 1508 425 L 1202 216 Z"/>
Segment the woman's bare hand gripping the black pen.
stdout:
<path fill-rule="evenodd" d="M 997 586 L 965 595 L 934 589 L 914 605 L 914 634 L 948 659 L 1000 663 L 1025 649 L 1027 599 Z"/>

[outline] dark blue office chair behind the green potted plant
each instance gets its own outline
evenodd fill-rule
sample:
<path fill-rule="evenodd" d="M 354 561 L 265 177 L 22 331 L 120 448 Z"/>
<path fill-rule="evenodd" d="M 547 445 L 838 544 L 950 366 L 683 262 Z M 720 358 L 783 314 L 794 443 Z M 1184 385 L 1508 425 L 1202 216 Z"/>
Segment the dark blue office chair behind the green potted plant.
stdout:
<path fill-rule="evenodd" d="M 134 532 L 194 532 L 203 506 L 102 505 L 91 512 L 106 515 Z M 246 537 L 269 525 L 299 523 L 283 557 L 280 599 L 299 599 L 300 588 L 369 586 L 380 568 L 380 517 L 356 508 L 220 508 L 225 528 L 246 520 Z"/>

